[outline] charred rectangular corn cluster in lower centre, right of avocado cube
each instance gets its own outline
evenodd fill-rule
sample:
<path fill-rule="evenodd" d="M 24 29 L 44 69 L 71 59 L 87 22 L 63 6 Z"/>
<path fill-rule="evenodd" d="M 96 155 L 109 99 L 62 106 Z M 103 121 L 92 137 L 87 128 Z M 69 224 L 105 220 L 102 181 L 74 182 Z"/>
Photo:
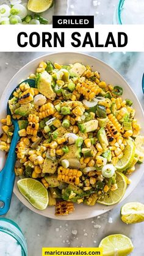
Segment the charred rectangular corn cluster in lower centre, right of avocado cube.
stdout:
<path fill-rule="evenodd" d="M 79 182 L 80 182 L 79 177 L 81 176 L 82 176 L 81 170 L 69 169 L 69 168 L 65 169 L 62 166 L 58 168 L 57 180 L 59 181 L 79 185 Z"/>

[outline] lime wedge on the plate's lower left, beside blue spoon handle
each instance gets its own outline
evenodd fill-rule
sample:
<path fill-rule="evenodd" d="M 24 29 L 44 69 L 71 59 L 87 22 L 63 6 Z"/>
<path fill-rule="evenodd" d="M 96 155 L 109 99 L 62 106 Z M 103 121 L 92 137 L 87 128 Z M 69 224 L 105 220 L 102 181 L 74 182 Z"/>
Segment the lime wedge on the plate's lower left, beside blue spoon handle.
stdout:
<path fill-rule="evenodd" d="M 17 182 L 21 194 L 38 210 L 48 206 L 48 191 L 40 181 L 33 178 L 23 178 Z"/>

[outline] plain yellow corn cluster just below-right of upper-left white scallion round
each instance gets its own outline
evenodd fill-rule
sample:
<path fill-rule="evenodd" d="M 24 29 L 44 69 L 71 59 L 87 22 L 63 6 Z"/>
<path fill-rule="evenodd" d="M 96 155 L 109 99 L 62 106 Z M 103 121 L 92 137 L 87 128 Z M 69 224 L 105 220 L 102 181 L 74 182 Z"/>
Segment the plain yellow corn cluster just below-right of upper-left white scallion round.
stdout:
<path fill-rule="evenodd" d="M 38 113 L 38 116 L 40 117 L 40 119 L 43 119 L 45 117 L 48 117 L 49 115 L 54 114 L 54 112 L 55 112 L 54 105 L 50 102 L 46 103 L 40 107 L 39 111 L 40 112 Z"/>

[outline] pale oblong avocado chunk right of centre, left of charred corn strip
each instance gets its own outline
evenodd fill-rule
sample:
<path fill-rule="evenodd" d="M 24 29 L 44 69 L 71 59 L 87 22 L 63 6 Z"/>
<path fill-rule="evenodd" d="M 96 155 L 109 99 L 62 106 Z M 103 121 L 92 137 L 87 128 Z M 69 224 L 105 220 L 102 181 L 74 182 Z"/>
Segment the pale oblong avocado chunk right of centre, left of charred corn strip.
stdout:
<path fill-rule="evenodd" d="M 98 128 L 98 121 L 90 120 L 85 123 L 79 123 L 78 127 L 82 133 L 89 133 L 90 131 L 95 131 Z"/>

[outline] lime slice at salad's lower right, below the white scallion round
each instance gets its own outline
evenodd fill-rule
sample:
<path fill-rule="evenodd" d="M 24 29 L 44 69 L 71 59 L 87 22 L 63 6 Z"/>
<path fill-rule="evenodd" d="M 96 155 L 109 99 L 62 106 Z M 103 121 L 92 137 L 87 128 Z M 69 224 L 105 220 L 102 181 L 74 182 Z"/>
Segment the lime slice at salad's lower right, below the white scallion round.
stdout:
<path fill-rule="evenodd" d="M 127 187 L 127 178 L 121 172 L 116 172 L 116 183 L 118 188 L 115 191 L 108 191 L 104 198 L 97 200 L 97 203 L 103 205 L 115 205 L 123 197 L 126 187 Z"/>

